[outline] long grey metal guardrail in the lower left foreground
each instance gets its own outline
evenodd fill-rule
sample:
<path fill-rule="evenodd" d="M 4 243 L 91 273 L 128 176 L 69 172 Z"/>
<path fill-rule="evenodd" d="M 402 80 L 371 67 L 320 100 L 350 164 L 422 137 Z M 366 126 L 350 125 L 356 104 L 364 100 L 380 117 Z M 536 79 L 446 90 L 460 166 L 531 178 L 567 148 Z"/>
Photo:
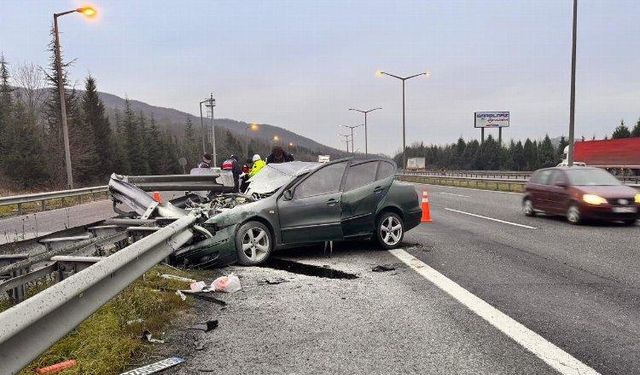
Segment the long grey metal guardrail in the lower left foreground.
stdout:
<path fill-rule="evenodd" d="M 186 215 L 0 313 L 0 367 L 15 374 L 100 306 L 187 243 Z"/>

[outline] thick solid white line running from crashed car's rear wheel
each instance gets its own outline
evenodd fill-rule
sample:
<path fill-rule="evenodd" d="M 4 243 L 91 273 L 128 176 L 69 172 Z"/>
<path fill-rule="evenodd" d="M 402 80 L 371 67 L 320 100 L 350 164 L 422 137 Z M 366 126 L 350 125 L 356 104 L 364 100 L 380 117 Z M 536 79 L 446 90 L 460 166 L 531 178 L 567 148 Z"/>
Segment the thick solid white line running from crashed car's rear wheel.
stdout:
<path fill-rule="evenodd" d="M 453 280 L 429 267 L 426 263 L 420 261 L 418 258 L 407 253 L 403 249 L 389 250 L 389 252 L 411 267 L 420 276 L 429 280 L 442 291 L 449 294 L 469 310 L 489 322 L 489 324 L 509 336 L 515 342 L 538 358 L 542 359 L 561 374 L 598 374 L 596 370 L 580 362 L 571 354 L 555 346 L 544 337 L 518 323 L 516 320 L 491 306 L 484 300 L 474 294 L 471 294 Z"/>

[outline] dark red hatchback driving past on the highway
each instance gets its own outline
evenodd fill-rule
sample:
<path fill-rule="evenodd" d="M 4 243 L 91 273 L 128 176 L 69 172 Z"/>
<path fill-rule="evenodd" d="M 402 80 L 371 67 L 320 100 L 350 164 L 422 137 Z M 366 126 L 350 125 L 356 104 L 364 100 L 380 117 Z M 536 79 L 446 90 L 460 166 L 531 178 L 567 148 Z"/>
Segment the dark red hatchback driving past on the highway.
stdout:
<path fill-rule="evenodd" d="M 539 169 L 525 185 L 522 198 L 525 215 L 563 215 L 571 224 L 598 219 L 634 225 L 639 209 L 640 193 L 636 189 L 593 167 Z"/>

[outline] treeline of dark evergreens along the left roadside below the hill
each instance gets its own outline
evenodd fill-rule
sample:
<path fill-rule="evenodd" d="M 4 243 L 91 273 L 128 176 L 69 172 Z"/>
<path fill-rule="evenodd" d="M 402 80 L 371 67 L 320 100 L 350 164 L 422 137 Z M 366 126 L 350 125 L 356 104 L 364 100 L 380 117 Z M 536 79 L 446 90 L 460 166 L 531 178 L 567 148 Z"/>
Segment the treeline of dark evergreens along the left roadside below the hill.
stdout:
<path fill-rule="evenodd" d="M 51 50 L 51 48 L 50 48 Z M 82 91 L 69 87 L 68 63 L 58 76 L 53 52 L 48 69 L 33 64 L 13 68 L 0 54 L 0 189 L 62 189 L 66 187 L 64 143 L 58 81 L 66 88 L 65 104 L 69 129 L 74 185 L 105 184 L 111 173 L 183 173 L 196 166 L 202 156 L 202 131 L 185 118 L 181 126 L 159 124 L 151 115 L 132 110 L 129 100 L 109 120 L 98 96 L 97 82 L 84 79 Z M 12 69 L 13 68 L 13 69 Z M 272 144 L 238 136 L 216 128 L 218 163 L 231 154 L 241 160 L 254 153 L 266 157 Z M 284 147 L 287 149 L 288 147 Z M 210 141 L 206 140 L 211 153 Z M 248 151 L 248 152 L 246 152 Z M 289 148 L 298 160 L 317 156 L 301 147 Z"/>

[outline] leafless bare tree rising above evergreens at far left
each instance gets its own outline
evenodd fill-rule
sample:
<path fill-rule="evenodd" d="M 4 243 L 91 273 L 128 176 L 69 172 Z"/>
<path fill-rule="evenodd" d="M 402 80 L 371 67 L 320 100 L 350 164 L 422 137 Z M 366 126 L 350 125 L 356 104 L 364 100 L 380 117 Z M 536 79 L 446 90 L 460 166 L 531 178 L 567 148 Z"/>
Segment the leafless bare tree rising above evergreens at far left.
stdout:
<path fill-rule="evenodd" d="M 42 68 L 33 63 L 19 65 L 13 79 L 18 88 L 17 99 L 24 105 L 34 124 L 40 121 L 42 105 L 47 96 L 46 80 Z"/>

